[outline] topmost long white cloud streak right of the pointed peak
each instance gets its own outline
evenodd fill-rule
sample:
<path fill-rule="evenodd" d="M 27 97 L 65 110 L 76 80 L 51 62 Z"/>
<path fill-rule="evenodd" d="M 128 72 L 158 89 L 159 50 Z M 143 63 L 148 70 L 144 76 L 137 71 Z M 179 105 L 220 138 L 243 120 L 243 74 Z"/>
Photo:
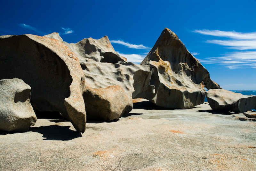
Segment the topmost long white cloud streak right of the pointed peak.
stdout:
<path fill-rule="evenodd" d="M 235 31 L 220 31 L 220 30 L 194 30 L 195 33 L 200 33 L 204 35 L 218 36 L 218 37 L 228 37 L 232 39 L 240 40 L 252 40 L 256 39 L 256 32 L 252 33 L 240 33 Z"/>

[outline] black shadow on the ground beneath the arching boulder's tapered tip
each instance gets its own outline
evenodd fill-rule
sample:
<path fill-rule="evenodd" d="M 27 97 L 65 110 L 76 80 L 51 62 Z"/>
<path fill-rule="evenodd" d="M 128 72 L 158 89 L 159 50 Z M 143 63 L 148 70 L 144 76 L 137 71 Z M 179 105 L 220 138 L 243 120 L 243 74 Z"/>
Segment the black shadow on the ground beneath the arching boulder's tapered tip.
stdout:
<path fill-rule="evenodd" d="M 82 137 L 80 132 L 70 130 L 69 126 L 49 125 L 40 127 L 30 127 L 28 131 L 43 134 L 44 140 L 67 141 L 74 138 Z"/>

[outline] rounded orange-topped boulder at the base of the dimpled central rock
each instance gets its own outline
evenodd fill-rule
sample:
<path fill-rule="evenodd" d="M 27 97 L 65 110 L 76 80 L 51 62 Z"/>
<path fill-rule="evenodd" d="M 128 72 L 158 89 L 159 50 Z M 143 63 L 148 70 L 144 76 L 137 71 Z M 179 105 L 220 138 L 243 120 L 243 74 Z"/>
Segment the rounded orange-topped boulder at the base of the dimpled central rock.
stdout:
<path fill-rule="evenodd" d="M 83 97 L 87 120 L 111 121 L 132 110 L 132 100 L 120 85 L 86 89 Z"/>

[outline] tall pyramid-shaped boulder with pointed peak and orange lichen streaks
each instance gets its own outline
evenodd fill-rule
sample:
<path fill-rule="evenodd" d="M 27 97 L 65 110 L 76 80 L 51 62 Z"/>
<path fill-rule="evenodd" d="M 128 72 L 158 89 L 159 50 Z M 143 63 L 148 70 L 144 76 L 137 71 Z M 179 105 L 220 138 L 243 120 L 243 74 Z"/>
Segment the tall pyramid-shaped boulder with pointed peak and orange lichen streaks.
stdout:
<path fill-rule="evenodd" d="M 168 28 L 164 29 L 141 64 L 154 66 L 150 84 L 156 87 L 156 92 L 136 98 L 148 99 L 160 107 L 193 108 L 204 102 L 204 87 L 220 88 Z"/>

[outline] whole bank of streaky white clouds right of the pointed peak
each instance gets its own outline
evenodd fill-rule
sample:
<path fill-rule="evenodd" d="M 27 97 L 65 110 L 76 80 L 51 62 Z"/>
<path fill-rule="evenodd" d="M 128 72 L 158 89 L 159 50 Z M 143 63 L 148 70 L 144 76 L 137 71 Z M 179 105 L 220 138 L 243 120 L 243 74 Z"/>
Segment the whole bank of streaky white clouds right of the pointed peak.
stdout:
<path fill-rule="evenodd" d="M 223 64 L 229 69 L 243 68 L 244 66 L 256 68 L 256 32 L 238 33 L 235 31 L 226 32 L 220 30 L 195 30 L 194 32 L 231 38 L 231 40 L 207 40 L 206 42 L 239 50 L 224 54 L 220 57 L 199 60 L 201 63 Z"/>

